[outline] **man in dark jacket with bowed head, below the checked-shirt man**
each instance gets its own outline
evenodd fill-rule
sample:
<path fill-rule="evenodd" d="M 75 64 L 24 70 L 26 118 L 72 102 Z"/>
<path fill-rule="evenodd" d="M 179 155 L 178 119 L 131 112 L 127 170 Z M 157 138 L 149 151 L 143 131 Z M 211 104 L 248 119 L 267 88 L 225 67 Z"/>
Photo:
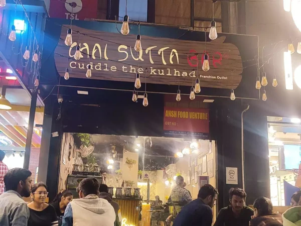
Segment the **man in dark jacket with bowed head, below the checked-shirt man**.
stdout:
<path fill-rule="evenodd" d="M 215 205 L 217 194 L 216 188 L 210 184 L 201 187 L 198 198 L 182 208 L 173 226 L 211 226 L 212 207 Z"/>

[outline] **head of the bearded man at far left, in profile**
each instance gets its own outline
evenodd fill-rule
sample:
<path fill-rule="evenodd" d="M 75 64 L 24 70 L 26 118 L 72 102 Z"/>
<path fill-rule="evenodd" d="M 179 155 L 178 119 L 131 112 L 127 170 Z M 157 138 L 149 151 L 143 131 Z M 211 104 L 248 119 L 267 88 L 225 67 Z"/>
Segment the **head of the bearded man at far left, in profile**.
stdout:
<path fill-rule="evenodd" d="M 23 197 L 30 196 L 32 187 L 31 172 L 27 169 L 14 168 L 4 176 L 6 190 L 17 191 Z"/>

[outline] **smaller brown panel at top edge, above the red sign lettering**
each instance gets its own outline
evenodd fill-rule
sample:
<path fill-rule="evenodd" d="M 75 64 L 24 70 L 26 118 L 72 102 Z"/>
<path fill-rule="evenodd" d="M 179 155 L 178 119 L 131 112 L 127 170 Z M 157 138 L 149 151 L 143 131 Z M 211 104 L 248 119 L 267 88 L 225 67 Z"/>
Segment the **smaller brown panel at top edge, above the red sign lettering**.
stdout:
<path fill-rule="evenodd" d="M 195 17 L 212 18 L 212 0 L 194 0 Z M 221 2 L 214 4 L 214 18 L 222 19 Z"/>

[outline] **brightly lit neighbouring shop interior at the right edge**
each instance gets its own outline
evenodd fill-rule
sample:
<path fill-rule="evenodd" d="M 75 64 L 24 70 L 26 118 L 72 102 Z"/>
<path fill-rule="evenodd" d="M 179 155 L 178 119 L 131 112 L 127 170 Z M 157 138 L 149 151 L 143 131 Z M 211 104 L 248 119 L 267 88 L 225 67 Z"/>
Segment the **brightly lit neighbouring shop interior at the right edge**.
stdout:
<path fill-rule="evenodd" d="M 274 206 L 289 206 L 301 187 L 301 120 L 268 117 L 270 194 Z"/>

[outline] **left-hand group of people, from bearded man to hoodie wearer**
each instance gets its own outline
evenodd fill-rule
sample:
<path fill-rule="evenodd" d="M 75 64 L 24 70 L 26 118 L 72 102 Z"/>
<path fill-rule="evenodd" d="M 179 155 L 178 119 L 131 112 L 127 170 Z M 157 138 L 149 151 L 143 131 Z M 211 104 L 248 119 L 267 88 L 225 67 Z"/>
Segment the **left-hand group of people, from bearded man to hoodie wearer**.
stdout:
<path fill-rule="evenodd" d="M 93 178 L 83 179 L 77 188 L 78 199 L 71 191 L 60 192 L 47 203 L 47 186 L 32 184 L 32 173 L 22 168 L 9 170 L 4 178 L 6 192 L 0 195 L 1 226 L 120 226 L 118 203 L 112 201 L 108 187 Z M 23 197 L 31 197 L 27 203 Z"/>

